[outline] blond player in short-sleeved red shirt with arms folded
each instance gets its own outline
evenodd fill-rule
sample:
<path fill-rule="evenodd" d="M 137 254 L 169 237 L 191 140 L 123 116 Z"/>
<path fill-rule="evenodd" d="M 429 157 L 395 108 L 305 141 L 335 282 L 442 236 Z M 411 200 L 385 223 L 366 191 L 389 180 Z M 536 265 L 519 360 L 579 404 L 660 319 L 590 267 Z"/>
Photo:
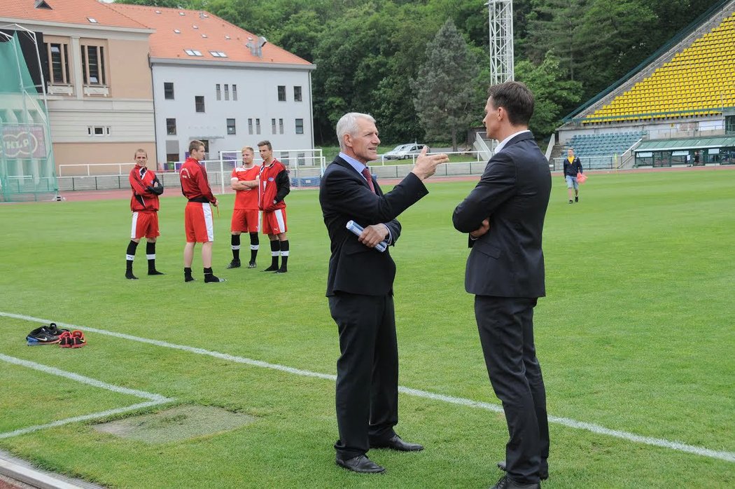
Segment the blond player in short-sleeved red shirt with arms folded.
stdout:
<path fill-rule="evenodd" d="M 255 268 L 258 256 L 258 176 L 260 167 L 253 163 L 254 151 L 250 146 L 243 148 L 243 165 L 232 170 L 231 185 L 235 190 L 234 210 L 232 211 L 232 262 L 227 268 L 240 267 L 240 233 L 250 233 L 250 263 Z"/>

